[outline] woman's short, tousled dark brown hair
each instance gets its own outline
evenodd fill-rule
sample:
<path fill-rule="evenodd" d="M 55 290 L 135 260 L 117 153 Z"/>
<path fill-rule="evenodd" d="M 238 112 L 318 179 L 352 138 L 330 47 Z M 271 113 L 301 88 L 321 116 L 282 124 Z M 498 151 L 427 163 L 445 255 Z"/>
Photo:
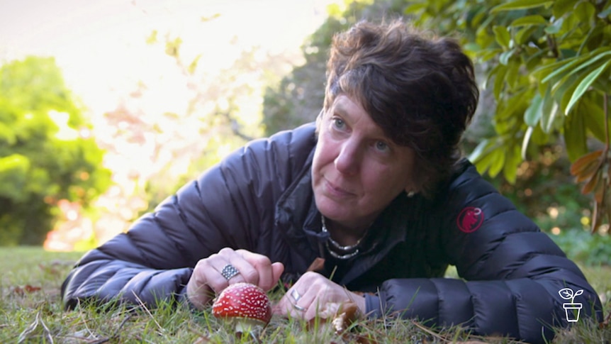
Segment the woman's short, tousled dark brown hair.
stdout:
<path fill-rule="evenodd" d="M 361 21 L 335 35 L 325 110 L 339 94 L 359 101 L 388 138 L 415 150 L 415 182 L 425 196 L 454 170 L 479 97 L 473 64 L 455 40 L 400 20 Z"/>

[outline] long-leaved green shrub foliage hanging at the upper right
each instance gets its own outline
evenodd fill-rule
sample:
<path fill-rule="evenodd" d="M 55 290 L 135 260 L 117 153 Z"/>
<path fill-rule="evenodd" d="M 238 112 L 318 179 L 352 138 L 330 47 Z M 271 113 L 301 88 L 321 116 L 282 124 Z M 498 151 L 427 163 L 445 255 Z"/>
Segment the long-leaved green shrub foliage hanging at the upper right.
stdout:
<path fill-rule="evenodd" d="M 421 0 L 405 13 L 456 35 L 483 74 L 493 132 L 471 152 L 478 170 L 514 183 L 522 161 L 561 145 L 594 196 L 591 229 L 611 222 L 611 1 Z"/>

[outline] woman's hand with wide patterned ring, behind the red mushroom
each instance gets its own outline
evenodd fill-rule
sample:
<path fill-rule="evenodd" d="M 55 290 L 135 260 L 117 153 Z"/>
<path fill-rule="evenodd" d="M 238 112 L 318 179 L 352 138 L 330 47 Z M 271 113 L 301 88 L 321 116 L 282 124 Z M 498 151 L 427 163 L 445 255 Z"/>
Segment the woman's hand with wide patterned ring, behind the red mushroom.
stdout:
<path fill-rule="evenodd" d="M 283 271 L 281 262 L 272 263 L 264 255 L 223 248 L 197 262 L 186 285 L 186 294 L 191 304 L 203 309 L 215 294 L 230 284 L 248 282 L 267 292 L 278 283 Z"/>

